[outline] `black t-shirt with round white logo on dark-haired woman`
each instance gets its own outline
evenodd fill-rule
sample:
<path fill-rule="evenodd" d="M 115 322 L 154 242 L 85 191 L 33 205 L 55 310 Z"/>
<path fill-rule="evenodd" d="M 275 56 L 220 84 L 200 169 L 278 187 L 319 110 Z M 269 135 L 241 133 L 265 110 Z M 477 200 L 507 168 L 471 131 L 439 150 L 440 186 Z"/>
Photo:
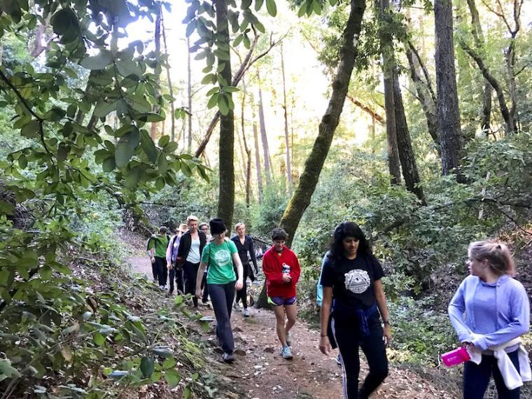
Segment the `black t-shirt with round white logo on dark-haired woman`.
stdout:
<path fill-rule="evenodd" d="M 354 259 L 325 259 L 321 285 L 332 287 L 332 297 L 343 307 L 369 309 L 375 303 L 373 281 L 384 276 L 373 255 L 358 254 Z"/>

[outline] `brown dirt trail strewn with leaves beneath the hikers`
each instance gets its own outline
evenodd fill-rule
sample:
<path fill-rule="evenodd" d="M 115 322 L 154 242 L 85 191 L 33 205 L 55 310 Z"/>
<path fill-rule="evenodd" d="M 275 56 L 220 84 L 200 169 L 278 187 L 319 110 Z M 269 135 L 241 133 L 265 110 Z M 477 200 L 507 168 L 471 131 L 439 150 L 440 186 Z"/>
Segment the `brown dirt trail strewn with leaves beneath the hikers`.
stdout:
<path fill-rule="evenodd" d="M 130 267 L 151 279 L 151 264 L 144 242 L 132 240 L 131 236 L 127 238 Z M 173 298 L 168 297 L 167 300 L 170 303 Z M 200 306 L 199 310 L 203 316 L 214 316 L 210 307 Z M 318 330 L 298 320 L 292 330 L 294 358 L 285 360 L 279 353 L 273 312 L 250 307 L 250 313 L 250 317 L 244 318 L 240 312 L 233 311 L 231 323 L 236 356 L 232 365 L 225 365 L 220 360 L 221 349 L 216 347 L 214 328 L 202 332 L 202 339 L 210 348 L 206 356 L 212 363 L 219 363 L 220 374 L 230 386 L 235 387 L 235 393 L 225 393 L 223 398 L 342 398 L 342 368 L 336 362 L 337 351 L 332 356 L 325 356 L 318 350 Z M 365 374 L 367 364 L 362 360 L 360 376 Z M 442 381 L 428 380 L 421 373 L 391 365 L 388 378 L 372 398 L 454 399 L 456 395 Z"/>

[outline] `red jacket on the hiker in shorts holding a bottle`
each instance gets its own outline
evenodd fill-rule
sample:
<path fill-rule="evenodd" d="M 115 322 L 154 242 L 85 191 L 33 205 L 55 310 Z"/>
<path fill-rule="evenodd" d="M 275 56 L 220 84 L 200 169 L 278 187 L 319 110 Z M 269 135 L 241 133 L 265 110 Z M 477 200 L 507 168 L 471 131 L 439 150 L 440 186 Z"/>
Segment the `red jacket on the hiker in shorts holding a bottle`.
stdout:
<path fill-rule="evenodd" d="M 283 282 L 283 264 L 290 266 L 292 281 Z M 266 290 L 269 297 L 295 297 L 295 284 L 299 280 L 301 267 L 293 251 L 284 247 L 281 253 L 272 246 L 262 257 L 262 271 L 266 276 Z"/>

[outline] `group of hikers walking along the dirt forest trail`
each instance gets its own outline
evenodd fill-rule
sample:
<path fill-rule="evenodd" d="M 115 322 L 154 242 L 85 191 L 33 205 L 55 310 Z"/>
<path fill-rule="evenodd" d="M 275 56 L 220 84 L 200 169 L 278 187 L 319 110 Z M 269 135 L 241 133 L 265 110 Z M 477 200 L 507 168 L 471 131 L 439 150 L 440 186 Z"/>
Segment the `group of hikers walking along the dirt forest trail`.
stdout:
<path fill-rule="evenodd" d="M 211 219 L 208 226 L 202 224 L 197 230 L 197 218 L 189 216 L 187 224 L 180 225 L 170 239 L 173 241 L 168 241 L 169 255 L 162 246 L 158 251 L 156 244 L 151 251 L 152 262 L 157 265 L 154 278 L 155 270 L 162 270 L 161 265 L 177 270 L 175 265 L 183 264 L 183 270 L 188 270 L 184 274 L 184 292 L 195 295 L 195 306 L 198 299 L 207 300 L 207 294 L 210 295 L 216 316 L 216 336 L 226 363 L 235 360 L 231 310 L 238 310 L 241 301 L 244 316 L 249 316 L 246 279 L 253 280 L 258 273 L 253 240 L 246 236 L 245 225 L 237 223 L 235 232 L 232 239 L 226 238 L 225 224 L 219 218 Z M 163 230 L 159 236 L 165 233 Z M 174 250 L 176 237 L 179 244 Z M 272 246 L 262 257 L 267 302 L 276 316 L 281 357 L 291 359 L 294 339 L 290 330 L 297 316 L 296 284 L 301 269 L 297 255 L 286 247 L 287 233 L 275 228 L 271 238 Z M 499 398 L 519 398 L 523 381 L 532 379 L 528 356 L 519 338 L 530 328 L 526 290 L 512 278 L 514 261 L 505 244 L 473 242 L 468 249 L 467 264 L 470 276 L 462 281 L 449 304 L 451 323 L 461 345 L 470 353 L 463 371 L 463 397 L 482 399 L 493 375 Z M 325 355 L 333 348 L 339 349 L 337 361 L 342 366 L 346 399 L 368 398 L 388 375 L 386 346 L 391 342 L 391 321 L 381 283 L 383 276 L 383 267 L 360 227 L 353 222 L 337 225 L 318 279 L 317 297 L 321 307 L 318 347 Z M 165 287 L 165 279 L 166 274 L 162 277 L 158 274 L 161 288 Z M 360 387 L 359 348 L 369 366 Z"/>

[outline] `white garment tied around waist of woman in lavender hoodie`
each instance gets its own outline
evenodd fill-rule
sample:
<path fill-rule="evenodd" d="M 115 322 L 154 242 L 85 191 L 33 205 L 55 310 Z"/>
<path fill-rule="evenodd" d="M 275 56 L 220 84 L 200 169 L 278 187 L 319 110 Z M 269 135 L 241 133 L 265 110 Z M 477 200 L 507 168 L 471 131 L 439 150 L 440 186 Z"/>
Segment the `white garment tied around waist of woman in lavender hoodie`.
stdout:
<path fill-rule="evenodd" d="M 472 334 L 472 339 L 475 339 L 475 335 L 477 334 Z M 514 363 L 512 363 L 512 360 L 510 360 L 510 357 L 504 351 L 505 348 L 517 344 L 519 344 L 519 349 L 517 349 L 519 372 L 517 372 Z M 511 390 L 523 386 L 523 381 L 532 381 L 532 370 L 528 362 L 528 353 L 521 344 L 521 338 L 518 337 L 497 346 L 489 346 L 488 349 L 493 351 L 493 356 L 497 359 L 500 374 L 503 376 L 504 384 L 508 389 Z M 482 361 L 482 351 L 480 349 L 476 346 L 470 346 L 468 353 L 473 363 L 480 364 Z"/>

